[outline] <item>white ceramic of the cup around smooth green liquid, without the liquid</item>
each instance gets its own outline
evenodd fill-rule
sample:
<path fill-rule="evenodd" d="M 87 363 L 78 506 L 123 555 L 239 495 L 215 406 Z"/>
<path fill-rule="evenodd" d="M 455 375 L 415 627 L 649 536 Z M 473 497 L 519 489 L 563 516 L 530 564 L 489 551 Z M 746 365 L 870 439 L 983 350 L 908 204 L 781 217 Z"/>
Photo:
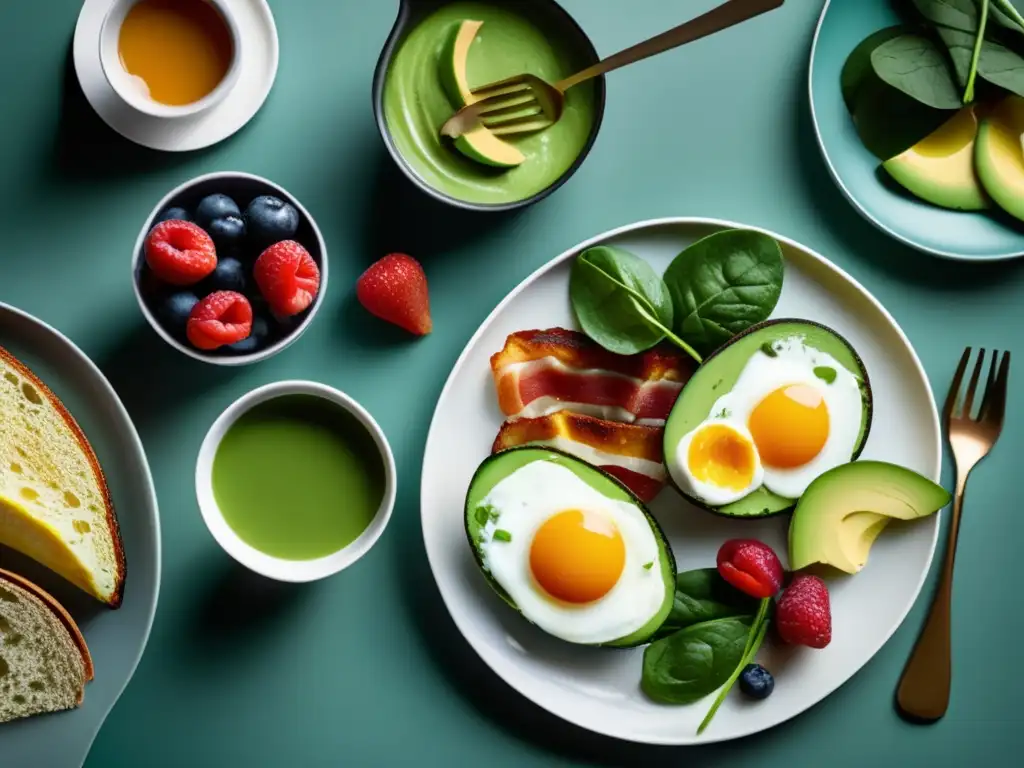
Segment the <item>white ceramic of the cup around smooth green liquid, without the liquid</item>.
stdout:
<path fill-rule="evenodd" d="M 284 560 L 271 557 L 251 547 L 239 538 L 238 534 L 224 520 L 213 495 L 213 458 L 216 456 L 220 440 L 230 426 L 242 414 L 254 406 L 289 394 L 308 394 L 322 397 L 354 416 L 374 438 L 374 443 L 380 452 L 381 462 L 384 464 L 384 498 L 381 500 L 381 505 L 370 525 L 347 547 L 314 560 Z M 266 384 L 243 395 L 232 402 L 210 427 L 196 462 L 196 496 L 199 500 L 200 512 L 203 514 L 203 521 L 217 544 L 228 555 L 250 570 L 268 579 L 280 582 L 313 582 L 347 568 L 369 552 L 370 548 L 380 539 L 388 520 L 391 519 L 391 511 L 394 509 L 395 488 L 397 487 L 396 475 L 394 456 L 391 454 L 391 446 L 388 444 L 384 431 L 358 402 L 347 394 L 325 384 L 312 381 L 280 381 Z"/>

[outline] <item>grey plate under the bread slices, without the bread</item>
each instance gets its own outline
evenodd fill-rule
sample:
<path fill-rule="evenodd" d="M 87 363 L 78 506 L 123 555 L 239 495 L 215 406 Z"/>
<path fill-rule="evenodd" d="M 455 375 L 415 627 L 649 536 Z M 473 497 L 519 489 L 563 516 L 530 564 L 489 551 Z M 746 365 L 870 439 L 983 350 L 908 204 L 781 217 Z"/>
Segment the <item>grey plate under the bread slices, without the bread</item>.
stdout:
<path fill-rule="evenodd" d="M 4 768 L 73 768 L 85 762 L 150 639 L 160 593 L 157 493 L 128 412 L 81 349 L 59 331 L 2 302 L 0 346 L 32 369 L 82 427 L 106 475 L 125 548 L 124 601 L 117 610 L 39 563 L 0 548 L 0 565 L 38 584 L 75 617 L 96 668 L 96 678 L 86 685 L 80 708 L 0 727 L 0 764 Z"/>

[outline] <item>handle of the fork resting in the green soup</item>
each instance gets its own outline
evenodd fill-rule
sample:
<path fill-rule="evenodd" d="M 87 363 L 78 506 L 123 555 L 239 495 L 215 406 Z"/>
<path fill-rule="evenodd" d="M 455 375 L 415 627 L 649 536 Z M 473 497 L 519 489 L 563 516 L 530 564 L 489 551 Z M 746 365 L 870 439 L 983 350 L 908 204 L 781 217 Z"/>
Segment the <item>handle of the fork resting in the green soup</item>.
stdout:
<path fill-rule="evenodd" d="M 708 35 L 714 35 L 724 29 L 733 27 L 748 18 L 766 13 L 779 7 L 785 0 L 728 0 L 717 8 L 696 18 L 691 18 L 685 24 L 679 25 L 675 29 L 663 32 L 656 37 L 637 43 L 634 46 L 608 56 L 592 67 L 588 67 L 583 72 L 578 72 L 558 83 L 555 87 L 563 93 L 573 85 L 591 80 L 592 78 L 605 75 L 612 70 L 617 70 L 626 65 L 635 63 L 644 58 L 664 53 L 667 50 L 678 48 L 680 45 L 691 43 Z"/>

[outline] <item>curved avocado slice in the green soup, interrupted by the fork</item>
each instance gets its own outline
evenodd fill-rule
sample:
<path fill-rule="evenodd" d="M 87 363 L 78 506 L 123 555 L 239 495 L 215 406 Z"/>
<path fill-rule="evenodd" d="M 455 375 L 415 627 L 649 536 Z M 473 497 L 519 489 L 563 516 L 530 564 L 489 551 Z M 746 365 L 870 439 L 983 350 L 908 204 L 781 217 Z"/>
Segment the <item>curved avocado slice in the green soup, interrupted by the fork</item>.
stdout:
<path fill-rule="evenodd" d="M 483 22 L 465 20 L 453 30 L 440 57 L 441 85 L 457 110 L 476 100 L 466 78 L 466 59 L 469 47 Z M 519 150 L 503 141 L 482 125 L 464 133 L 455 140 L 456 148 L 470 160 L 499 168 L 512 168 L 526 158 Z"/>

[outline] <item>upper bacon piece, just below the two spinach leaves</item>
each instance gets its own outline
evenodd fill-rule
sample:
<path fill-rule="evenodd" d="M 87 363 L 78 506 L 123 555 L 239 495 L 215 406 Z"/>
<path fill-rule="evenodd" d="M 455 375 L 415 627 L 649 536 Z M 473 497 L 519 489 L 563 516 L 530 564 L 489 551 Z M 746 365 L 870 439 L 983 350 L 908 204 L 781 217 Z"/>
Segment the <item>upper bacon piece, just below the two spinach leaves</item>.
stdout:
<path fill-rule="evenodd" d="M 519 331 L 490 357 L 498 402 L 510 419 L 574 411 L 650 426 L 665 424 L 694 362 L 669 344 L 609 352 L 578 331 Z"/>

